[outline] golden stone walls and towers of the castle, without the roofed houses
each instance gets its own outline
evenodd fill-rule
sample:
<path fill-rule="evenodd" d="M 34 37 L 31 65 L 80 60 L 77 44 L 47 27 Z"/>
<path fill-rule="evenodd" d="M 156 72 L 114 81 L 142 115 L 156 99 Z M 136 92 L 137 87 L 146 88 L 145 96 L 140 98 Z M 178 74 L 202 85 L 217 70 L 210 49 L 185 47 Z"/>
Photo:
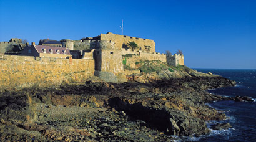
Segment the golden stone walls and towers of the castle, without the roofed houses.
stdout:
<path fill-rule="evenodd" d="M 134 41 L 141 50 L 126 48 L 129 41 Z M 9 45 L 19 42 L 1 42 Z M 61 40 L 63 47 L 71 49 L 73 58 L 59 59 L 54 57 L 27 57 L 0 54 L 0 87 L 24 87 L 34 84 L 58 85 L 61 82 L 82 82 L 92 75 L 101 78 L 126 78 L 124 75 L 139 73 L 138 70 L 124 70 L 123 60 L 135 67 L 140 60 L 160 60 L 167 62 L 167 55 L 155 52 L 154 40 L 128 37 L 123 35 L 101 34 L 83 40 Z M 144 45 L 150 46 L 146 50 Z M 72 50 L 75 49 L 75 50 Z M 132 54 L 132 57 L 127 54 Z M 184 55 L 172 55 L 172 65 L 184 65 Z M 125 79 L 124 79 L 125 80 Z M 111 80 L 112 82 L 113 80 Z"/>

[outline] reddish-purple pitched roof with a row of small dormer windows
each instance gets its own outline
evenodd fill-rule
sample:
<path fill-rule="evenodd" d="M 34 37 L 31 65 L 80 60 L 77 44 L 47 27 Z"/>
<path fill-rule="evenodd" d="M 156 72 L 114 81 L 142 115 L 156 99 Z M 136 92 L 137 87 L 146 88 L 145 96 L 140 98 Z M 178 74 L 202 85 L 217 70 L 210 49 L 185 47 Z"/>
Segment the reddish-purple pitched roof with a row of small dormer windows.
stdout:
<path fill-rule="evenodd" d="M 52 54 L 57 54 L 57 50 L 59 50 L 59 54 L 64 54 L 64 51 L 66 50 L 66 54 L 70 55 L 69 49 L 65 47 L 52 47 L 52 46 L 46 46 L 46 45 L 32 45 L 32 46 L 39 53 L 44 53 L 44 49 L 46 49 L 46 53 L 51 54 L 51 49 L 52 49 Z"/>

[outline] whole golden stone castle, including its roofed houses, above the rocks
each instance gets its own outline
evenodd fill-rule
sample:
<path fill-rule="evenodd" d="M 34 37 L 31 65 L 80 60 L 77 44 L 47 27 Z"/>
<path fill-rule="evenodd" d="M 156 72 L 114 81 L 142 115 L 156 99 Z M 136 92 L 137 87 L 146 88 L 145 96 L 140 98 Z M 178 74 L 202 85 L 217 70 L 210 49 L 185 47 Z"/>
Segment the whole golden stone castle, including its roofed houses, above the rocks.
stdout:
<path fill-rule="evenodd" d="M 16 40 L 10 40 L 8 43 L 13 44 L 13 41 L 17 43 Z M 129 49 L 129 42 L 134 42 L 138 48 Z M 0 47 L 1 44 L 2 42 Z M 0 77 L 4 80 L 0 80 L 0 86 L 6 82 L 11 85 L 14 80 L 16 84 L 42 83 L 42 80 L 57 84 L 66 80 L 67 76 L 72 80 L 81 81 L 92 75 L 107 82 L 119 82 L 119 77 L 140 73 L 139 70 L 124 70 L 123 60 L 126 60 L 130 67 L 135 67 L 135 63 L 141 60 L 167 62 L 166 54 L 155 52 L 154 40 L 117 35 L 111 32 L 81 40 L 43 39 L 39 41 L 39 45 L 34 42 L 31 45 L 26 44 L 26 47 L 23 45 L 19 52 L 21 52 L 19 56 L 0 55 L 2 70 Z M 132 54 L 132 57 L 126 56 L 129 54 Z M 184 55 L 174 54 L 169 59 L 174 66 L 184 65 Z M 10 72 L 9 76 L 4 72 Z M 21 76 L 19 72 L 22 72 Z"/>

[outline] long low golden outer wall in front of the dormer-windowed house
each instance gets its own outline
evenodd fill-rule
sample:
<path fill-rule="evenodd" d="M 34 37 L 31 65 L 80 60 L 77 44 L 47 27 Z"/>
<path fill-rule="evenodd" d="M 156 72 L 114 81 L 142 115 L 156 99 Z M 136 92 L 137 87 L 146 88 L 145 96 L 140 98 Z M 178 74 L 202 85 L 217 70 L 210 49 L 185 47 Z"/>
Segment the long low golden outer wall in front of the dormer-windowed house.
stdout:
<path fill-rule="evenodd" d="M 0 55 L 0 87 L 52 86 L 64 82 L 84 82 L 94 75 L 94 60 L 56 59 Z"/>

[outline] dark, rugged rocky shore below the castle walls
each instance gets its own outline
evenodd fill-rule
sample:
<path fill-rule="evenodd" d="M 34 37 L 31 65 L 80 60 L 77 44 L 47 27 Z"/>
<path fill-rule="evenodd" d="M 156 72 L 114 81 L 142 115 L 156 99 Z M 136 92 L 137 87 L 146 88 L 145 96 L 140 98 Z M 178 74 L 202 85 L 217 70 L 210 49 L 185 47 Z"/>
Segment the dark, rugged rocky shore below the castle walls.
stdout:
<path fill-rule="evenodd" d="M 0 140 L 172 141 L 174 135 L 205 135 L 210 132 L 205 121 L 226 118 L 205 103 L 250 101 L 208 93 L 235 82 L 192 69 L 130 75 L 127 80 L 116 84 L 92 77 L 59 87 L 2 90 Z"/>

